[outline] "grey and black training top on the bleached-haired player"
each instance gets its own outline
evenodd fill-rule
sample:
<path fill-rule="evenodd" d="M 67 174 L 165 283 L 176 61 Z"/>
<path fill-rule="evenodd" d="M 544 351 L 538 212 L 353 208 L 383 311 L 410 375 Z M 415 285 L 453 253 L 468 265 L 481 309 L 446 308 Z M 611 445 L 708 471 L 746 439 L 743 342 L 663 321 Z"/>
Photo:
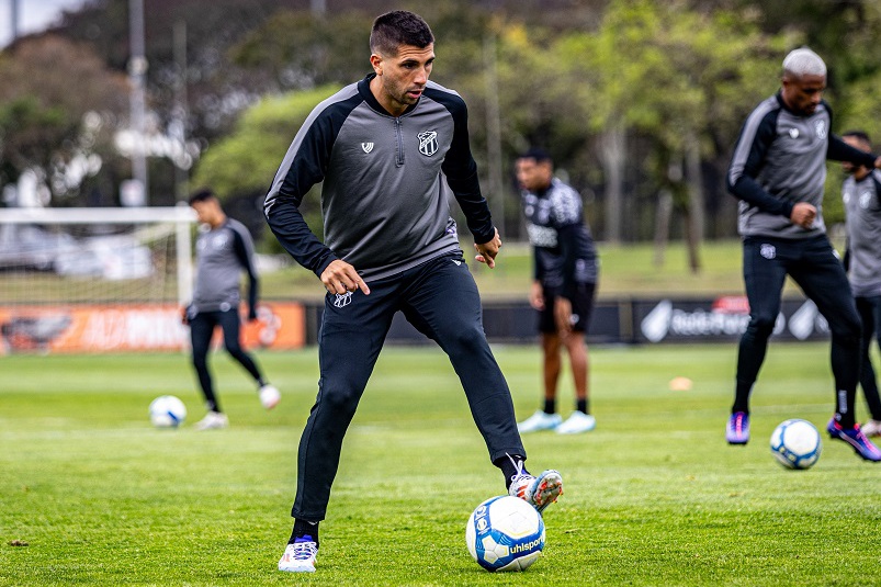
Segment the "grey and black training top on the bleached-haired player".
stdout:
<path fill-rule="evenodd" d="M 743 236 L 799 239 L 825 234 L 823 184 L 826 159 L 874 166 L 874 156 L 832 134 L 832 110 L 824 101 L 813 114 L 790 111 L 778 92 L 747 117 L 727 173 L 731 193 L 741 200 Z M 811 228 L 790 222 L 799 202 L 817 210 Z"/>

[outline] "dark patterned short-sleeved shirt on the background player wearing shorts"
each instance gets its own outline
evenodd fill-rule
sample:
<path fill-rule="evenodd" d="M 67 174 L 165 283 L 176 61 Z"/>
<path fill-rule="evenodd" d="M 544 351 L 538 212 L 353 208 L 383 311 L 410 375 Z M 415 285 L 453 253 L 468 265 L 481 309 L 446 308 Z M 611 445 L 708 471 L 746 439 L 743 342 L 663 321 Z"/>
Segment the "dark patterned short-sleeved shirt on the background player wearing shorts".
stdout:
<path fill-rule="evenodd" d="M 520 201 L 532 245 L 533 278 L 544 287 L 562 287 L 562 295 L 569 298 L 577 284 L 596 283 L 597 251 L 578 192 L 553 178 L 546 190 L 523 190 Z"/>

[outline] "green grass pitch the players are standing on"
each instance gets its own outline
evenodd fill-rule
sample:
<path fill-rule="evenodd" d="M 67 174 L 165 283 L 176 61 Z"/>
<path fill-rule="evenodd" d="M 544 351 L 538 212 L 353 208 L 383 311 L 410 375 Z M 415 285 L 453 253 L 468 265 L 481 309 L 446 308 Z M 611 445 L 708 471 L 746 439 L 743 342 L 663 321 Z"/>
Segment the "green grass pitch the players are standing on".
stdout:
<path fill-rule="evenodd" d="M 523 418 L 538 405 L 538 349 L 496 353 Z M 0 585 L 881 582 L 881 466 L 828 440 L 804 472 L 768 450 L 779 421 L 828 419 L 827 345 L 771 346 L 745 448 L 723 438 L 733 345 L 592 349 L 596 431 L 524 437 L 530 466 L 558 469 L 565 495 L 522 575 L 486 573 L 465 549 L 471 510 L 504 486 L 434 348 L 384 351 L 347 437 L 318 573 L 278 572 L 317 358 L 258 357 L 282 404 L 264 413 L 216 355 L 231 427 L 210 432 L 191 427 L 202 409 L 181 354 L 0 359 Z M 669 391 L 677 375 L 693 388 Z M 187 403 L 182 429 L 149 426 L 160 394 Z M 566 382 L 564 408 L 571 398 Z"/>

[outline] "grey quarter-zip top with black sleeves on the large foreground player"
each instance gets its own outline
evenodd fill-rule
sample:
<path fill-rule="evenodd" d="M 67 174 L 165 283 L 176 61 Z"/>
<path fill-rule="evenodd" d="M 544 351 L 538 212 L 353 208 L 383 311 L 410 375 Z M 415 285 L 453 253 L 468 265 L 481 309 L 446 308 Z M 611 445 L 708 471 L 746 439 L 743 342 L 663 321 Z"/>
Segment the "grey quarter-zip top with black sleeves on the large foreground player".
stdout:
<path fill-rule="evenodd" d="M 371 93 L 373 77 L 313 110 L 266 199 L 267 221 L 281 245 L 319 276 L 335 259 L 370 281 L 460 251 L 450 191 L 475 242 L 495 235 L 471 155 L 465 102 L 429 82 L 419 101 L 395 117 Z M 321 181 L 324 244 L 298 210 Z"/>

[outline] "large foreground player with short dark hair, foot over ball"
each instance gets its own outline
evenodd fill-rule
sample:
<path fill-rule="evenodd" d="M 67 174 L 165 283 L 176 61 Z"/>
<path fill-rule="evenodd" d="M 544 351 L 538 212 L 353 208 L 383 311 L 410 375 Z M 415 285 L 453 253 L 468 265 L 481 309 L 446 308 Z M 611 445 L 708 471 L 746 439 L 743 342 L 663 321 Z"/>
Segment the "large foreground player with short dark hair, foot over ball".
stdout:
<path fill-rule="evenodd" d="M 294 528 L 279 561 L 287 572 L 315 571 L 342 439 L 397 312 L 449 355 L 509 494 L 541 511 L 563 490 L 556 471 L 532 476 L 523 466 L 513 403 L 450 217 L 452 192 L 475 259 L 495 267 L 501 240 L 481 194 L 465 103 L 428 80 L 434 37 L 420 16 L 376 18 L 370 50 L 373 72 L 313 110 L 266 200 L 279 241 L 327 290 L 318 395 L 300 441 Z M 318 182 L 324 242 L 298 210 Z"/>

